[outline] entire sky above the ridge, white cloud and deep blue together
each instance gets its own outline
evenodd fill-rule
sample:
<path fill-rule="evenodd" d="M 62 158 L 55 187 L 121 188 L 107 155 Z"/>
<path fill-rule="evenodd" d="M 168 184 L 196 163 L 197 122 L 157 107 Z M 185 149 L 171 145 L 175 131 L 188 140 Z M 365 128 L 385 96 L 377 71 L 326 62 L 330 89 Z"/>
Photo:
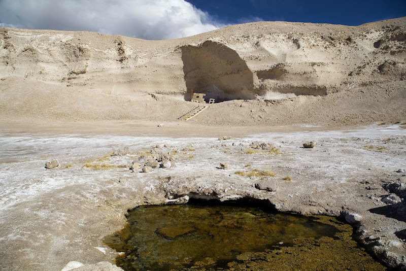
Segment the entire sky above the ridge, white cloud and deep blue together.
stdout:
<path fill-rule="evenodd" d="M 406 0 L 0 0 L 0 27 L 87 30 L 146 40 L 254 21 L 360 25 L 406 16 Z"/>

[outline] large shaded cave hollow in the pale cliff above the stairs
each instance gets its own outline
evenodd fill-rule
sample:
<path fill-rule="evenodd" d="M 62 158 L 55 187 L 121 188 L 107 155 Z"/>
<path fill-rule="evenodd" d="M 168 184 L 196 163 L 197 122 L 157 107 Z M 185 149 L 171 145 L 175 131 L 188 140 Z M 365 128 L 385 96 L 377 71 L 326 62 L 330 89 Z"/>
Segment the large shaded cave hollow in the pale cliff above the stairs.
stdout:
<path fill-rule="evenodd" d="M 216 102 L 233 99 L 255 99 L 253 73 L 239 54 L 214 41 L 198 46 L 181 47 L 183 72 L 190 100 L 192 91 L 206 93 L 206 99 Z"/>

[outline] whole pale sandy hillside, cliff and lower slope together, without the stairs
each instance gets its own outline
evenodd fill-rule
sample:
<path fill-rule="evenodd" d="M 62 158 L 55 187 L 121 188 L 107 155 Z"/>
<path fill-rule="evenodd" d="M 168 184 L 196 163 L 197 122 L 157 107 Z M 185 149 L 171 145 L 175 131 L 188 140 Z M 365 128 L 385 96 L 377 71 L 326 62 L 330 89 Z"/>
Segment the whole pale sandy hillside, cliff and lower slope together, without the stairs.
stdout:
<path fill-rule="evenodd" d="M 1 28 L 0 115 L 175 121 L 192 107 L 193 89 L 233 101 L 196 118 L 205 124 L 404 119 L 405 31 L 406 18 L 356 27 L 256 22 L 165 41 Z M 221 117 L 231 108 L 237 119 Z"/>

